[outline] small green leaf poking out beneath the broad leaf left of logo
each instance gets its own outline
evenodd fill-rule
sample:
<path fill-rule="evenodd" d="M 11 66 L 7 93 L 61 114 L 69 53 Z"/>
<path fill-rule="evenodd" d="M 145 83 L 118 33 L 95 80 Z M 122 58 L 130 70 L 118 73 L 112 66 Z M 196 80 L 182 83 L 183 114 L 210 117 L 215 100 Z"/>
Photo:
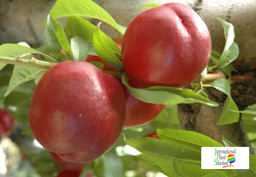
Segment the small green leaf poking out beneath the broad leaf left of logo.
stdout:
<path fill-rule="evenodd" d="M 140 162 L 140 166 L 148 169 L 148 170 L 155 170 L 155 171 L 159 171 L 162 174 L 169 176 L 169 174 L 167 174 L 164 170 L 162 170 L 161 167 L 159 167 L 157 165 L 157 163 L 155 163 L 154 161 L 152 161 L 150 158 L 147 158 L 147 156 L 141 154 L 141 155 L 132 155 L 131 156 L 133 161 L 135 162 Z"/>

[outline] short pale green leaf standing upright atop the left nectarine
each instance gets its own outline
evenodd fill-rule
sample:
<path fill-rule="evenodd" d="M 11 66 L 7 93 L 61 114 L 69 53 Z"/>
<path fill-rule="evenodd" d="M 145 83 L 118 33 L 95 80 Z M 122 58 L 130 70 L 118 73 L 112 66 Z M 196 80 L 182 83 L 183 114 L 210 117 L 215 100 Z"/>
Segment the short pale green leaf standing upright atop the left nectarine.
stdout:
<path fill-rule="evenodd" d="M 88 56 L 90 42 L 82 36 L 71 39 L 71 49 L 75 61 L 85 61 Z"/>

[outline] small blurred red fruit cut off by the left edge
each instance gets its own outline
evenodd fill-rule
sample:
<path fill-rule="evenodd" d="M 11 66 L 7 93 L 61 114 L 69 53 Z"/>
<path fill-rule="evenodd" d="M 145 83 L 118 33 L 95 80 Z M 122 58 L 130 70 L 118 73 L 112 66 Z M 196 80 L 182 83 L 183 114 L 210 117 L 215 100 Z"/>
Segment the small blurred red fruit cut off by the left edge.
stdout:
<path fill-rule="evenodd" d="M 7 109 L 0 112 L 0 124 L 2 124 L 3 131 L 5 133 L 9 132 L 10 130 L 12 130 L 14 128 L 13 117 L 11 117 L 10 112 Z"/>

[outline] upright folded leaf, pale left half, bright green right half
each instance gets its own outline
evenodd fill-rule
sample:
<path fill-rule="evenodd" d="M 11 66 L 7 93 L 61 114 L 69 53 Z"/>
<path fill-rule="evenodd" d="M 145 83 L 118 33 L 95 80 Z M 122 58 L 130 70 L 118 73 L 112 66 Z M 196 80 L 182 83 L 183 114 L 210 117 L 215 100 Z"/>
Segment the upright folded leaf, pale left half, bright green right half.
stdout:
<path fill-rule="evenodd" d="M 59 60 L 73 60 L 70 44 L 68 44 L 67 37 L 62 26 L 50 15 L 48 15 L 46 30 L 44 32 L 44 40 L 51 53 L 58 58 L 61 58 Z"/>

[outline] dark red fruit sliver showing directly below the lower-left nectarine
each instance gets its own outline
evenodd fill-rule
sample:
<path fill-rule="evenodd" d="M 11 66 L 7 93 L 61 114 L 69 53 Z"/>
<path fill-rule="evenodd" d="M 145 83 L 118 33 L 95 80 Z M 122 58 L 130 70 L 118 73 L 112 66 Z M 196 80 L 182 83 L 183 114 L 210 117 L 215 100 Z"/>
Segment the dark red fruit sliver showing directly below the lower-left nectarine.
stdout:
<path fill-rule="evenodd" d="M 54 159 L 54 161 L 58 164 L 58 166 L 62 167 L 64 170 L 78 170 L 82 168 L 83 166 L 87 165 L 87 163 L 74 163 L 74 162 L 68 162 L 64 159 L 60 158 L 59 155 L 56 153 L 51 153 L 51 157 Z"/>

